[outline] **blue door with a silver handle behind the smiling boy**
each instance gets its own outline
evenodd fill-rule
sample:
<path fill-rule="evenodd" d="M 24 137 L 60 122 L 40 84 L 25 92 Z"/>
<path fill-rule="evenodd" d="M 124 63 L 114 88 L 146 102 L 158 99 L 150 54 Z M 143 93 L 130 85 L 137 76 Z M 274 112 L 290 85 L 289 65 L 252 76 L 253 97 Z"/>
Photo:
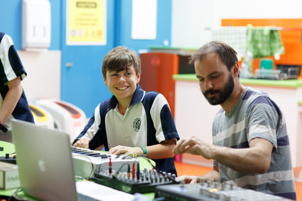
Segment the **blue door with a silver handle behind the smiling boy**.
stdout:
<path fill-rule="evenodd" d="M 88 118 L 111 93 L 104 84 L 102 62 L 114 48 L 115 1 L 107 1 L 107 44 L 66 45 L 66 0 L 62 0 L 61 99 L 82 109 Z"/>

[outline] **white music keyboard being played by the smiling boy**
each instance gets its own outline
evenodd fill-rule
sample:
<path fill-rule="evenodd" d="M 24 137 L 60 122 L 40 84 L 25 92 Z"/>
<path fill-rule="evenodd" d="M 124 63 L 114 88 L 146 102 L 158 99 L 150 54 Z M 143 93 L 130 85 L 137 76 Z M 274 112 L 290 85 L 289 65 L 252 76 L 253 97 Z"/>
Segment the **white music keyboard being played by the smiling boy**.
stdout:
<path fill-rule="evenodd" d="M 97 171 L 103 171 L 109 169 L 109 161 L 112 162 L 112 170 L 125 172 L 128 170 L 128 165 L 132 167 L 133 163 L 137 165 L 138 160 L 131 156 L 125 156 L 123 154 L 112 155 L 90 149 L 84 149 L 71 146 L 71 155 L 74 167 L 74 174 L 77 176 L 88 177 L 93 176 Z"/>

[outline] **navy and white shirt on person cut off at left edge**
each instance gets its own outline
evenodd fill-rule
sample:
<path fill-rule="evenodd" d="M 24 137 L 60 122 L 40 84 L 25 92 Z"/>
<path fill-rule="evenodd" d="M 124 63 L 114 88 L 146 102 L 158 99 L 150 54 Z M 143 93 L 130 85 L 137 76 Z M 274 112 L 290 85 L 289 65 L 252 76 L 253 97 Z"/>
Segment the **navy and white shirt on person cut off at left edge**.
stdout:
<path fill-rule="evenodd" d="M 3 32 L 0 32 L 0 106 L 9 91 L 7 83 L 19 76 L 21 80 L 23 80 L 26 75 L 26 71 L 15 49 L 12 38 Z M 15 119 L 34 122 L 24 91 L 12 113 L 12 116 Z M 7 126 L 9 126 L 12 116 L 7 121 Z"/>

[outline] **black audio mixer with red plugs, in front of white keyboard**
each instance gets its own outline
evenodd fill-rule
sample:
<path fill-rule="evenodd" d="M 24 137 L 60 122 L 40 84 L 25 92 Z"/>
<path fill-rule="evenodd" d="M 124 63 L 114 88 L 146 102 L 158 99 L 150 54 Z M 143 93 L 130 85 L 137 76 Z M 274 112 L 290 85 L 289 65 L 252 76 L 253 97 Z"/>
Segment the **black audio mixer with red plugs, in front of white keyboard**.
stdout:
<path fill-rule="evenodd" d="M 111 188 L 122 190 L 134 194 L 135 192 L 145 193 L 154 192 L 158 185 L 179 183 L 175 180 L 175 174 L 158 172 L 157 170 L 135 171 L 133 169 L 128 172 L 102 171 L 95 175 L 95 182 L 109 186 Z M 139 168 L 137 168 L 139 169 Z"/>

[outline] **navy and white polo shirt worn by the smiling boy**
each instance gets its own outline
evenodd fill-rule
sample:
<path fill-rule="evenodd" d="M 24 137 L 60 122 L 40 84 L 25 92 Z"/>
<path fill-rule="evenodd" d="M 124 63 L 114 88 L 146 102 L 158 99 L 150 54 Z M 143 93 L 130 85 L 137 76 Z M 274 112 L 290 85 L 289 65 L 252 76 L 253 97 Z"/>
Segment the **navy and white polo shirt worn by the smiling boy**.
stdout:
<path fill-rule="evenodd" d="M 124 116 L 118 112 L 117 104 L 115 96 L 100 103 L 78 136 L 90 140 L 90 149 L 104 144 L 108 151 L 118 145 L 151 146 L 164 140 L 179 139 L 168 102 L 161 93 L 144 91 L 137 84 Z M 176 174 L 173 158 L 154 161 L 161 170 Z"/>

